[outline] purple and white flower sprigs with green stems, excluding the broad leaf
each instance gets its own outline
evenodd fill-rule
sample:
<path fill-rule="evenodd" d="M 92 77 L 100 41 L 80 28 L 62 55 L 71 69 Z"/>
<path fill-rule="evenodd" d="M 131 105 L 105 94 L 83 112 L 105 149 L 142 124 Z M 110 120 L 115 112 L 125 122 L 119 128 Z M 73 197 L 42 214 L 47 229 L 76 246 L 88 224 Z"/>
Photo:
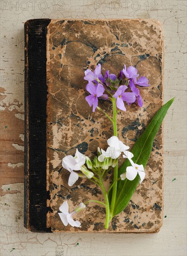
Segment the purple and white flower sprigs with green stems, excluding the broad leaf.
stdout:
<path fill-rule="evenodd" d="M 102 189 L 105 198 L 105 203 L 95 200 L 84 203 L 81 202 L 79 206 L 70 213 L 67 201 L 63 202 L 59 209 L 59 216 L 65 226 L 69 223 L 73 227 L 81 227 L 79 221 L 73 220 L 73 216 L 84 209 L 88 202 L 97 202 L 104 205 L 106 208 L 105 227 L 108 228 L 108 224 L 112 220 L 114 213 L 117 182 L 119 180 L 124 181 L 125 179 L 133 181 L 138 175 L 141 183 L 145 177 L 143 165 L 134 163 L 134 155 L 128 150 L 129 147 L 120 141 L 117 136 L 116 116 L 119 109 L 126 111 L 125 103 L 130 105 L 135 101 L 137 101 L 140 107 L 143 105 L 140 90 L 137 86 L 147 87 L 149 84 L 145 76 L 138 78 L 139 74 L 137 73 L 138 71 L 135 67 L 130 66 L 127 68 L 126 65 L 124 65 L 124 68 L 120 71 L 118 77 L 115 74 L 109 74 L 109 71 L 106 71 L 103 76 L 101 74 L 100 64 L 97 65 L 94 71 L 91 71 L 90 69 L 85 71 L 84 79 L 88 81 L 86 90 L 89 93 L 89 95 L 86 96 L 86 101 L 90 107 L 93 106 L 93 112 L 97 108 L 113 123 L 114 136 L 107 140 L 108 147 L 106 150 L 98 148 L 97 156 L 95 156 L 93 160 L 88 156 L 81 154 L 78 149 L 76 149 L 74 156 L 67 155 L 63 158 L 62 166 L 70 172 L 68 186 L 73 186 L 79 177 L 87 178 Z M 98 99 L 112 102 L 113 118 L 98 107 Z M 131 166 L 128 166 L 126 170 L 124 169 L 124 173 L 118 175 L 118 159 L 121 155 L 123 158 L 129 160 Z M 106 191 L 103 179 L 106 177 L 108 171 L 112 169 L 114 172 L 114 179 L 112 184 L 110 184 L 109 190 Z M 108 200 L 108 192 L 111 189 L 112 198 L 110 204 Z"/>

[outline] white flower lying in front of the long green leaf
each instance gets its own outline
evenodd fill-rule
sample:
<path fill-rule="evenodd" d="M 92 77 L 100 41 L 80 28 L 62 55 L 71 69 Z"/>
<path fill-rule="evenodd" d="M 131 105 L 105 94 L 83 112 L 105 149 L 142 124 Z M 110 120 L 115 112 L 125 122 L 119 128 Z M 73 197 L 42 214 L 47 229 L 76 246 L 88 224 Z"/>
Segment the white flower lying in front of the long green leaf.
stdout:
<path fill-rule="evenodd" d="M 140 176 L 140 183 L 143 181 L 143 179 L 145 178 L 145 171 L 143 168 L 143 165 L 139 165 L 133 162 L 132 159 L 129 159 L 129 161 L 131 162 L 132 166 L 128 166 L 126 169 L 126 178 L 129 181 L 132 181 L 135 179 L 136 175 L 139 174 Z M 125 174 L 121 174 L 121 175 L 125 175 Z M 121 177 L 120 175 L 120 177 Z M 123 176 L 122 176 L 123 177 Z M 122 180 L 122 178 L 121 178 Z"/>

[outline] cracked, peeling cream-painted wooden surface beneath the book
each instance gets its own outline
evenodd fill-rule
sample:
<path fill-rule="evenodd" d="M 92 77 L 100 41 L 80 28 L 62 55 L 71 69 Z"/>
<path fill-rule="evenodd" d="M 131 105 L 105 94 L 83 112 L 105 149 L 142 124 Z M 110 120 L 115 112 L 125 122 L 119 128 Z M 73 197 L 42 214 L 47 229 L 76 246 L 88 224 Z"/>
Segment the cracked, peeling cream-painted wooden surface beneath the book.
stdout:
<path fill-rule="evenodd" d="M 64 6 L 39 6 L 23 10 L 11 9 L 10 1 L 1 5 L 1 121 L 7 130 L 3 149 L 8 150 L 4 172 L 1 173 L 1 254 L 10 255 L 186 255 L 186 1 L 157 0 L 149 3 L 139 0 L 121 1 L 121 7 L 98 1 L 63 1 Z M 17 1 L 18 2 L 18 1 Z M 95 2 L 95 4 L 94 4 Z M 16 1 L 12 1 L 16 5 Z M 108 3 L 108 5 L 107 5 Z M 57 2 L 56 2 L 57 4 Z M 40 7 L 40 8 L 39 8 Z M 43 7 L 43 11 L 41 10 Z M 133 9 L 133 8 L 134 9 Z M 135 11 L 135 8 L 137 9 Z M 152 8 L 152 9 L 151 9 Z M 61 10 L 57 10 L 61 9 Z M 63 10 L 64 9 L 64 10 Z M 23 23 L 33 18 L 149 18 L 163 24 L 165 35 L 164 102 L 176 96 L 164 121 L 164 216 L 158 234 L 36 234 L 23 227 L 23 138 L 24 131 L 24 32 Z M 4 78 L 6 79 L 6 78 Z M 11 79 L 14 79 L 12 81 Z M 17 79 L 17 80 L 16 80 Z M 18 81 L 19 79 L 19 81 Z M 6 96 L 6 97 L 5 97 Z M 17 100 L 15 100 L 17 99 Z M 14 110 L 13 110 L 14 109 Z M 7 114 L 4 115 L 4 113 Z M 3 119 L 3 116 L 7 119 Z M 10 116 L 13 117 L 11 121 Z M 15 119 L 14 119 L 15 118 Z M 17 132 L 16 132 L 16 129 Z M 5 138 L 5 133 L 2 135 Z M 1 147 L 2 150 L 2 147 Z M 15 154 L 13 154 L 15 153 Z M 1 162 L 3 153 L 1 151 Z M 4 158 L 5 159 L 5 158 Z M 21 166 L 22 165 L 22 166 Z M 2 169 L 2 167 L 1 167 Z M 175 180 L 174 180 L 175 179 Z M 172 182 L 172 180 L 174 180 Z M 150 191 L 151 193 L 151 191 Z"/>

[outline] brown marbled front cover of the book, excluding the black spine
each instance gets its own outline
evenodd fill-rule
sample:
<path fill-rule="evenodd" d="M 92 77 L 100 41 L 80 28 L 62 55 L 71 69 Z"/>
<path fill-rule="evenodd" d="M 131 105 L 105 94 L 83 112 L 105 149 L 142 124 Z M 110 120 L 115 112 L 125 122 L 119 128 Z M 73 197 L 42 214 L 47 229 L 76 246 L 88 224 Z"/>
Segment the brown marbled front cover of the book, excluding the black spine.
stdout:
<path fill-rule="evenodd" d="M 65 155 L 75 148 L 93 157 L 97 147 L 105 148 L 113 134 L 110 121 L 92 112 L 84 71 L 102 65 L 117 74 L 126 64 L 138 68 L 149 78 L 151 87 L 140 88 L 143 108 L 131 105 L 118 115 L 118 135 L 131 148 L 162 105 L 163 34 L 156 20 L 52 20 L 47 34 L 47 227 L 53 232 L 157 232 L 163 212 L 163 141 L 162 127 L 154 141 L 146 167 L 146 178 L 138 186 L 127 208 L 115 216 L 109 230 L 104 230 L 105 209 L 89 204 L 77 215 L 82 228 L 64 227 L 58 216 L 62 202 L 70 210 L 85 200 L 101 200 L 99 188 L 87 179 L 68 187 L 69 172 L 62 168 Z M 111 113 L 111 105 L 100 101 Z M 122 159 L 121 159 L 122 160 Z M 106 181 L 106 187 L 109 180 Z"/>

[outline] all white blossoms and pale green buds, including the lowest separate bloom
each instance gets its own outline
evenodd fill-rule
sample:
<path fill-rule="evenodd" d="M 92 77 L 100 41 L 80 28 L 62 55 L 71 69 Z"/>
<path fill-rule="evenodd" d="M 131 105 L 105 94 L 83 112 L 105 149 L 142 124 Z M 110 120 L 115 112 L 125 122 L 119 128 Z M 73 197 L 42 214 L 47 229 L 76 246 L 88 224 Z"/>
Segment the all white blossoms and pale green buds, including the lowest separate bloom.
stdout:
<path fill-rule="evenodd" d="M 143 181 L 145 177 L 143 165 L 138 165 L 133 162 L 132 158 L 134 155 L 128 151 L 129 147 L 123 144 L 123 142 L 120 141 L 117 136 L 112 136 L 109 138 L 107 140 L 107 144 L 108 147 L 106 151 L 102 148 L 98 148 L 98 156 L 95 156 L 93 161 L 91 161 L 88 156 L 81 154 L 78 149 L 76 149 L 74 157 L 72 155 L 67 155 L 63 158 L 62 166 L 70 172 L 68 180 L 69 186 L 73 186 L 79 177 L 87 177 L 90 180 L 95 178 L 97 180 L 94 175 L 98 175 L 100 170 L 105 172 L 109 168 L 114 168 L 121 154 L 123 154 L 123 158 L 128 158 L 132 166 L 127 167 L 127 172 L 121 174 L 120 179 L 125 180 L 127 178 L 128 180 L 132 181 L 138 174 L 140 176 L 140 183 Z M 75 171 L 80 171 L 80 173 Z M 69 213 L 67 201 L 63 202 L 63 204 L 60 206 L 61 213 L 59 213 L 61 221 L 65 226 L 67 226 L 69 223 L 72 227 L 81 227 L 80 222 L 74 221 L 72 217 L 85 207 L 85 204 L 81 202 L 75 210 Z"/>

